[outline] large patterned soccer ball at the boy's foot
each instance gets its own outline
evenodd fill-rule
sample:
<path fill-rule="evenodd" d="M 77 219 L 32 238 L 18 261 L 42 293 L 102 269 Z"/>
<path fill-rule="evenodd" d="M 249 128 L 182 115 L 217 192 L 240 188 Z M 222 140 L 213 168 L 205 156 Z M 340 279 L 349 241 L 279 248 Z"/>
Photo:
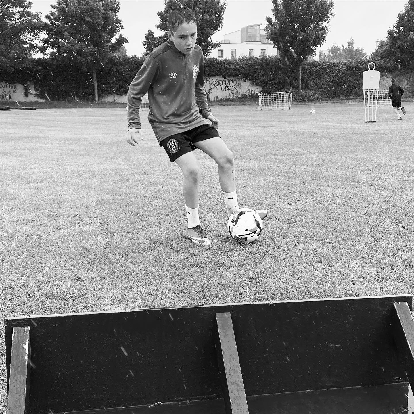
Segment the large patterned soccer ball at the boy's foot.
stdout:
<path fill-rule="evenodd" d="M 255 210 L 241 208 L 231 214 L 227 228 L 234 240 L 239 243 L 250 243 L 262 234 L 263 223 Z"/>

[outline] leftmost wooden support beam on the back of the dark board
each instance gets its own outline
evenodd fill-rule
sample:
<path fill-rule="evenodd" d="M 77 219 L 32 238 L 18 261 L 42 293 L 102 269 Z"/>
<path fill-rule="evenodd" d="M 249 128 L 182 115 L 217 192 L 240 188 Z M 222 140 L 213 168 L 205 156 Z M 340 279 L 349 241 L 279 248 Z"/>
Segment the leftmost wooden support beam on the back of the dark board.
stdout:
<path fill-rule="evenodd" d="M 7 414 L 24 414 L 29 400 L 30 327 L 13 328 Z"/>

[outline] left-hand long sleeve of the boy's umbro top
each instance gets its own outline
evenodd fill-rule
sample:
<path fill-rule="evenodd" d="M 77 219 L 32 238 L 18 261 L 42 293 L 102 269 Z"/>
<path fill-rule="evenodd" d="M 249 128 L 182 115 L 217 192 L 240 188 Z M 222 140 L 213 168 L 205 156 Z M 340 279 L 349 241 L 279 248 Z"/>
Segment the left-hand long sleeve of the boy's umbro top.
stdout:
<path fill-rule="evenodd" d="M 141 128 L 140 105 L 153 79 L 157 77 L 159 71 L 158 63 L 152 56 L 147 56 L 132 80 L 128 89 L 128 129 Z"/>

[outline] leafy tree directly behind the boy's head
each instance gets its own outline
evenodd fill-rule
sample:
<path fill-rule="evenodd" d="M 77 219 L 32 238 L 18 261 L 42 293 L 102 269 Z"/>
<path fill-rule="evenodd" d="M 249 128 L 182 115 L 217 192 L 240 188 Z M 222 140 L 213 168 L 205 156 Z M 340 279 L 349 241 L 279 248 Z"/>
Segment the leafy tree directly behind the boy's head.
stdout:
<path fill-rule="evenodd" d="M 157 46 L 168 40 L 167 15 L 174 7 L 188 7 L 194 11 L 197 21 L 197 45 L 200 46 L 203 53 L 208 55 L 212 49 L 220 46 L 220 43 L 214 43 L 211 36 L 223 26 L 223 14 L 226 10 L 227 1 L 221 3 L 220 0 L 164 0 L 164 11 L 158 12 L 159 24 L 156 28 L 164 31 L 161 36 L 154 36 L 152 30 L 145 34 L 145 40 L 142 44 L 147 53 L 151 53 Z"/>

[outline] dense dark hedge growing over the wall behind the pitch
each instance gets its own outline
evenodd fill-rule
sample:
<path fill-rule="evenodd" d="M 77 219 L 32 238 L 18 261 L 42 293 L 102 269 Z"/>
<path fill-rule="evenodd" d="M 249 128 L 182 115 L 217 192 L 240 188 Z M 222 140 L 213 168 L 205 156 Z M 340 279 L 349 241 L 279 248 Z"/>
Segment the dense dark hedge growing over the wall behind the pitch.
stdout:
<path fill-rule="evenodd" d="M 112 57 L 97 71 L 98 93 L 126 95 L 128 86 L 140 69 L 143 58 L 137 56 Z M 323 100 L 337 97 L 362 96 L 362 72 L 367 70 L 369 60 L 355 62 L 309 61 L 302 67 L 304 94 L 296 100 Z M 381 62 L 376 70 L 387 72 L 390 68 Z M 249 80 L 263 91 L 297 89 L 297 75 L 284 60 L 277 56 L 238 59 L 205 59 L 205 76 L 233 77 Z M 30 60 L 19 70 L 10 72 L 0 69 L 0 80 L 8 83 L 34 84 L 39 97 L 52 101 L 93 100 L 92 74 L 79 64 L 67 64 L 59 59 L 41 58 Z"/>

